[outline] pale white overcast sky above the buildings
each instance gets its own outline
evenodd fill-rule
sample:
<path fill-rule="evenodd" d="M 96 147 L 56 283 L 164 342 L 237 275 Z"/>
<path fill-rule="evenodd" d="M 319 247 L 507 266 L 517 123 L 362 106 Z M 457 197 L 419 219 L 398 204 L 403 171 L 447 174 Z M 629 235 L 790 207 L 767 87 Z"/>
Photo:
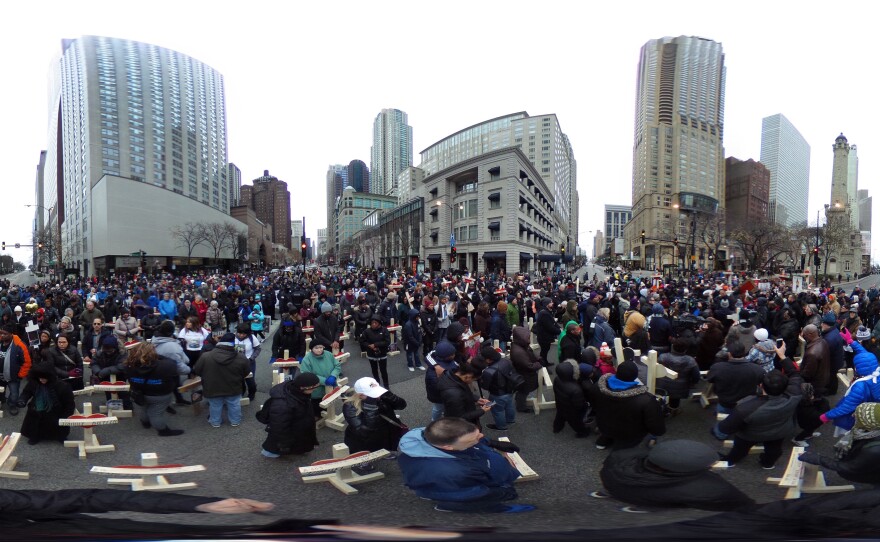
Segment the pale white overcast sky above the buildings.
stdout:
<path fill-rule="evenodd" d="M 556 113 L 578 163 L 580 245 L 603 204 L 630 204 L 639 50 L 649 39 L 721 42 L 727 156 L 760 158 L 761 119 L 783 113 L 811 146 L 810 217 L 830 199 L 831 147 L 859 149 L 878 183 L 875 2 L 43 1 L 4 8 L 0 87 L 3 232 L 29 243 L 46 148 L 49 62 L 62 38 L 103 35 L 174 49 L 219 70 L 229 160 L 249 183 L 287 181 L 307 234 L 326 224 L 329 164 L 369 165 L 373 119 L 409 115 L 418 152 L 499 115 Z M 14 7 L 12 7 L 14 6 Z M 131 6 L 131 7 L 129 7 Z M 875 213 L 876 215 L 876 213 Z M 880 216 L 878 216 L 880 220 Z M 145 224 L 144 227 L 149 227 Z M 874 236 L 880 245 L 880 235 Z M 874 249 L 877 250 L 876 248 Z M 12 252 L 30 263 L 29 252 Z"/>

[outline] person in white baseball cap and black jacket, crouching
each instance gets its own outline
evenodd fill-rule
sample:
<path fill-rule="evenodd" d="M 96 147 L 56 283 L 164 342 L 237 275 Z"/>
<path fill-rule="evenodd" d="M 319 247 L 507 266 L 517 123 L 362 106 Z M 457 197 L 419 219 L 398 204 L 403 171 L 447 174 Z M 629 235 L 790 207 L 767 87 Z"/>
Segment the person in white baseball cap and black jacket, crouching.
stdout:
<path fill-rule="evenodd" d="M 354 383 L 354 393 L 342 405 L 347 424 L 344 442 L 349 452 L 375 452 L 384 448 L 392 452 L 389 459 L 397 457 L 400 437 L 409 428 L 394 411 L 405 408 L 406 401 L 380 386 L 375 378 L 358 379 Z M 356 472 L 363 474 L 374 470 L 373 464 L 367 464 Z"/>

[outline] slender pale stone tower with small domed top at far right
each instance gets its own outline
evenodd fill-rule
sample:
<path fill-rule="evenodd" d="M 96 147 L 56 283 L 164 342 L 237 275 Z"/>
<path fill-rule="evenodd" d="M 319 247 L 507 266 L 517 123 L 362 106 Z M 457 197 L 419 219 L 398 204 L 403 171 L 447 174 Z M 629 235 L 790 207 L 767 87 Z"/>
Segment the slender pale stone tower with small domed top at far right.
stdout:
<path fill-rule="evenodd" d="M 862 272 L 862 240 L 852 226 L 853 205 L 850 204 L 849 165 L 852 147 L 843 134 L 834 140 L 834 165 L 831 172 L 831 203 L 825 206 L 826 231 L 829 232 L 830 253 L 820 272 L 840 275 L 849 280 Z"/>

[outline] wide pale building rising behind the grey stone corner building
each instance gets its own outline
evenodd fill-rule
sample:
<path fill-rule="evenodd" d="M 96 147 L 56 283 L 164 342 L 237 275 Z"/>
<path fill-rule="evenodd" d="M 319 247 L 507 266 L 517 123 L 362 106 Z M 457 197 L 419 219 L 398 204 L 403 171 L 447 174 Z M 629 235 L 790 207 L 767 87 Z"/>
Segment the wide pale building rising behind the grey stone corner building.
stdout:
<path fill-rule="evenodd" d="M 426 177 L 504 147 L 519 147 L 553 195 L 553 243 L 576 245 L 577 164 L 555 114 L 530 117 L 525 111 L 489 119 L 460 130 L 421 152 Z M 568 254 L 574 250 L 569 249 Z"/>

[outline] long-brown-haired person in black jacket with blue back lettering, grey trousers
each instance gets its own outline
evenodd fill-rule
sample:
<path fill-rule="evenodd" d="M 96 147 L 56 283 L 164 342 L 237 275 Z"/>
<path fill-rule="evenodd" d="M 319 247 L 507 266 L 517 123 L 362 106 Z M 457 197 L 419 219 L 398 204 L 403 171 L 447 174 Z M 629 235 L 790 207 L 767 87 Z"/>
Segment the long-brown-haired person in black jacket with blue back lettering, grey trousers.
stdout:
<path fill-rule="evenodd" d="M 182 435 L 182 429 L 168 427 L 165 411 L 171 406 L 180 376 L 186 373 L 181 373 L 174 360 L 160 356 L 147 342 L 131 349 L 125 367 L 141 425 L 145 429 L 156 429 L 160 437 Z"/>

